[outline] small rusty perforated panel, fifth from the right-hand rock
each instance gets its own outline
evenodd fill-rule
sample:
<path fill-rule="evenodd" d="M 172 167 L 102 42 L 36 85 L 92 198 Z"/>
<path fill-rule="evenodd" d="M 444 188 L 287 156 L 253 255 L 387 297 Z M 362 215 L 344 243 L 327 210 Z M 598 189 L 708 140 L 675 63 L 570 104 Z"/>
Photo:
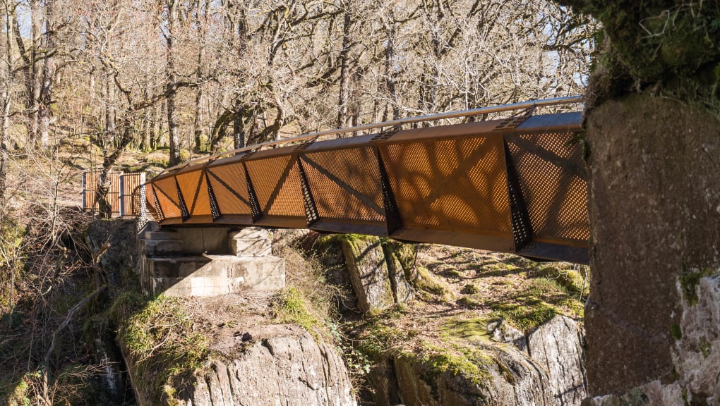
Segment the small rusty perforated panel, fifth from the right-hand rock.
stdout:
<path fill-rule="evenodd" d="M 208 167 L 208 178 L 222 215 L 249 215 L 250 198 L 242 162 Z"/>

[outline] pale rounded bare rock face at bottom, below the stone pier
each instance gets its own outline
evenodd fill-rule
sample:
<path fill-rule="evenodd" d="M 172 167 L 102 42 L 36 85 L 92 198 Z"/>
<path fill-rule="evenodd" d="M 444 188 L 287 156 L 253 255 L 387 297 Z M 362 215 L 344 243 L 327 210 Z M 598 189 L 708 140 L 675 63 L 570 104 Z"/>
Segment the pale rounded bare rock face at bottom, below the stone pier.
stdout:
<path fill-rule="evenodd" d="M 186 406 L 354 406 L 341 357 L 294 326 L 261 326 L 237 337 L 237 354 L 196 377 Z"/>

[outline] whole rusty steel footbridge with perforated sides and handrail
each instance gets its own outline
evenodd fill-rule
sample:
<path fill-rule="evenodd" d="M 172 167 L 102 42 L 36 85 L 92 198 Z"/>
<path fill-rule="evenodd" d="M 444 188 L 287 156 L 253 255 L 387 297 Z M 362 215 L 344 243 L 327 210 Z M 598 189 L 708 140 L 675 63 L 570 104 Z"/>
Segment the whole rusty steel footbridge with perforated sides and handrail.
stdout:
<path fill-rule="evenodd" d="M 257 144 L 169 168 L 148 183 L 147 203 L 161 226 L 358 233 L 588 264 L 587 172 L 572 142 L 581 114 L 532 114 L 536 106 L 581 101 L 516 103 Z M 516 114 L 400 129 L 498 111 Z M 379 131 L 318 140 L 369 129 Z"/>

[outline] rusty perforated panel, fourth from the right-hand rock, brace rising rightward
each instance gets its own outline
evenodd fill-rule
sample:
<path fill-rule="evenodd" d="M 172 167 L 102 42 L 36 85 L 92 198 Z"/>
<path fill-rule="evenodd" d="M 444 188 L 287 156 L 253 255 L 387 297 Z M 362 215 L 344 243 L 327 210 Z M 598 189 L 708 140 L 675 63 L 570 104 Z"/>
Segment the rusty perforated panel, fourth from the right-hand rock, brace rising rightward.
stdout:
<path fill-rule="evenodd" d="M 300 170 L 292 155 L 246 162 L 264 216 L 305 217 Z"/>

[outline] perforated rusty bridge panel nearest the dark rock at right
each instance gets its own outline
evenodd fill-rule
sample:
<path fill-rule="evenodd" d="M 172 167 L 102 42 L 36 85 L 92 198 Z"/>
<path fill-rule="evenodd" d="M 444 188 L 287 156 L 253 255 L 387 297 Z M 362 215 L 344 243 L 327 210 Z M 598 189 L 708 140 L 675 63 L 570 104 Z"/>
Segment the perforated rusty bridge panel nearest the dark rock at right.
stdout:
<path fill-rule="evenodd" d="M 572 133 L 528 134 L 508 142 L 534 234 L 539 238 L 588 241 L 588 184 Z M 535 145 L 536 147 L 530 147 Z"/>

